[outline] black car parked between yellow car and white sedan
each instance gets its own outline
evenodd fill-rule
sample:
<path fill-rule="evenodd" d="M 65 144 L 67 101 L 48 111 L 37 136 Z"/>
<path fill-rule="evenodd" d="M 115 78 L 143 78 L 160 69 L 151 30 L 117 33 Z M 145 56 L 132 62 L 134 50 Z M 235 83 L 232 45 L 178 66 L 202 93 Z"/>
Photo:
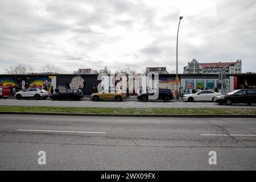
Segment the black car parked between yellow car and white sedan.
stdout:
<path fill-rule="evenodd" d="M 147 93 L 141 93 L 137 96 L 138 100 L 163 100 L 164 102 L 169 102 L 174 99 L 172 91 L 170 89 L 152 89 Z"/>

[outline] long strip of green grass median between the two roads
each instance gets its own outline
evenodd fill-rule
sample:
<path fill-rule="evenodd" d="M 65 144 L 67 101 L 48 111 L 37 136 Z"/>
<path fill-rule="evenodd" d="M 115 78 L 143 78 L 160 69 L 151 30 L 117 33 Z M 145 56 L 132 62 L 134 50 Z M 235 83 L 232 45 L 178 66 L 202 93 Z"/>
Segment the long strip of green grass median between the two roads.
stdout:
<path fill-rule="evenodd" d="M 120 107 L 54 107 L 54 106 L 0 106 L 1 111 L 31 113 L 82 114 L 254 114 L 256 108 L 120 108 Z"/>

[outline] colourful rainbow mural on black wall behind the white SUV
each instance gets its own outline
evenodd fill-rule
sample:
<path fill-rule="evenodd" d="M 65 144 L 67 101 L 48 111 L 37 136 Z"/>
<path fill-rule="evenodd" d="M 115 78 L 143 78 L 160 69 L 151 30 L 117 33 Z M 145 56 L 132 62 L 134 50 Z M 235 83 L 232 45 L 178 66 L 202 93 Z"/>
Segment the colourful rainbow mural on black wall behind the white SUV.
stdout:
<path fill-rule="evenodd" d="M 13 76 L 0 77 L 1 86 L 9 86 L 18 90 L 30 87 L 51 90 L 53 76 Z"/>

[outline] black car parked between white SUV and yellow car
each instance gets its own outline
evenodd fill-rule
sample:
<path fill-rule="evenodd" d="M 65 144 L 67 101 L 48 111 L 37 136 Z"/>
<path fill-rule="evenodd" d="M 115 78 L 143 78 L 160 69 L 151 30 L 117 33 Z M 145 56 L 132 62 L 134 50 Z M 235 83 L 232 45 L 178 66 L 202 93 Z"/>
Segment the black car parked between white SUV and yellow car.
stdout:
<path fill-rule="evenodd" d="M 66 89 L 59 93 L 53 93 L 51 94 L 50 98 L 55 100 L 81 100 L 83 98 L 82 96 L 82 90 L 80 89 Z"/>

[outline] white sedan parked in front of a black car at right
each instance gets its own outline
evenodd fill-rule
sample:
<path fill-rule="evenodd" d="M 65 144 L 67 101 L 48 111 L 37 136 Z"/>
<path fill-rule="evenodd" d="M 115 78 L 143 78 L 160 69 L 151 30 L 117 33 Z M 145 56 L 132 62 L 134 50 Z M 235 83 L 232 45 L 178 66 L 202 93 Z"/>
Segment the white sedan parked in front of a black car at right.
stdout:
<path fill-rule="evenodd" d="M 183 96 L 184 101 L 193 102 L 193 101 L 212 101 L 215 97 L 220 96 L 221 93 L 213 92 L 211 90 L 201 90 L 193 94 L 185 94 Z"/>

